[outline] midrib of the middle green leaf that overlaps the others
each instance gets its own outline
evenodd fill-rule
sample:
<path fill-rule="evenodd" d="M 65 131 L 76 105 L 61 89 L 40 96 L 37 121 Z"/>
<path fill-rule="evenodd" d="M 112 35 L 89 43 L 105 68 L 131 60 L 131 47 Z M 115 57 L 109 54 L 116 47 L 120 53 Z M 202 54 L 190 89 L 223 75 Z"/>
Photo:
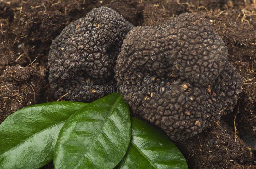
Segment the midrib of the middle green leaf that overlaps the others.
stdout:
<path fill-rule="evenodd" d="M 109 112 L 108 112 L 106 118 L 105 118 L 104 121 L 102 122 L 102 125 L 101 125 L 101 127 L 100 127 L 99 132 L 98 132 L 97 134 L 95 134 L 95 136 L 92 138 L 92 141 L 88 144 L 88 146 L 86 146 L 86 147 L 88 147 L 88 149 L 85 150 L 85 155 L 86 155 L 86 156 L 88 156 L 88 155 L 86 154 L 86 151 L 89 151 L 89 150 L 90 150 L 92 143 L 95 142 L 95 138 L 97 138 L 97 137 L 99 136 L 99 134 L 100 134 L 100 132 L 102 131 L 102 129 L 103 129 L 103 127 L 104 127 L 106 121 L 108 120 L 108 117 L 109 117 L 110 114 L 113 112 L 114 108 L 116 107 L 116 105 L 118 104 L 118 102 L 119 102 L 119 100 L 120 100 L 121 98 L 122 98 L 122 96 L 120 95 L 120 96 L 116 99 L 116 101 L 114 102 L 114 104 L 111 106 L 111 108 L 110 108 L 110 110 L 109 110 Z M 89 156 L 88 156 L 88 158 L 90 159 Z M 78 160 L 78 163 L 74 166 L 74 168 L 76 168 L 78 165 L 80 165 L 80 163 L 82 162 L 82 159 L 83 159 L 83 158 L 80 158 L 80 160 Z M 92 160 L 91 160 L 91 162 L 92 162 Z M 93 163 L 92 163 L 92 164 L 93 164 Z M 94 164 L 93 164 L 93 165 L 94 165 Z M 95 166 L 95 165 L 94 165 L 94 166 Z M 96 166 L 95 166 L 95 167 L 96 167 Z"/>

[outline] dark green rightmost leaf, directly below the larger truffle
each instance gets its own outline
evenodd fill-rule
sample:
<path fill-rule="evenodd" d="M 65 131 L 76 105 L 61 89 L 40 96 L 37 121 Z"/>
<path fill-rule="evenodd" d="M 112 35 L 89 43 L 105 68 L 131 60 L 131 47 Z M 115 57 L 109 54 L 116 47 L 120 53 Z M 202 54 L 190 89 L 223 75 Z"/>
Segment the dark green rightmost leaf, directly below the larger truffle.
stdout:
<path fill-rule="evenodd" d="M 188 168 L 185 158 L 162 131 L 132 118 L 132 140 L 116 168 Z"/>

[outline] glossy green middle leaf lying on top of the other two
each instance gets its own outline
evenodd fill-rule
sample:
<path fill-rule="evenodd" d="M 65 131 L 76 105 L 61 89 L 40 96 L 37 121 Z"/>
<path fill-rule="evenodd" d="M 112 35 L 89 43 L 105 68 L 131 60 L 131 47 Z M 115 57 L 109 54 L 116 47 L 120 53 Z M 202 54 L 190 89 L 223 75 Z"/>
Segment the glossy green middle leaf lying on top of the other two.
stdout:
<path fill-rule="evenodd" d="M 60 131 L 55 168 L 113 168 L 131 139 L 129 107 L 119 93 L 98 99 L 73 114 Z"/>

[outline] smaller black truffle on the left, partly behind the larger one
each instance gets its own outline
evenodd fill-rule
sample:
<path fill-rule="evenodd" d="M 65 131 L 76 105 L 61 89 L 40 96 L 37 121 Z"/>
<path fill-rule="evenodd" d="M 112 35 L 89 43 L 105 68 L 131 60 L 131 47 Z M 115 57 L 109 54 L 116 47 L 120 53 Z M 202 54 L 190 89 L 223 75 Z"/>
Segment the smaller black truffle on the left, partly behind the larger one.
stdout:
<path fill-rule="evenodd" d="M 115 86 L 114 65 L 126 34 L 134 26 L 107 7 L 66 26 L 52 41 L 49 82 L 56 98 L 90 102 Z M 112 88 L 111 88 L 112 89 Z"/>

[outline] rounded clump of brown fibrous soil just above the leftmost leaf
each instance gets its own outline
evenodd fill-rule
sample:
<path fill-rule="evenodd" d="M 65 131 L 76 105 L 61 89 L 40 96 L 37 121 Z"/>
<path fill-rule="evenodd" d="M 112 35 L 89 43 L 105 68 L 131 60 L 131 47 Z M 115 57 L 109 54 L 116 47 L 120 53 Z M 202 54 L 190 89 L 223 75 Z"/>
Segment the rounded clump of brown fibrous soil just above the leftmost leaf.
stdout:
<path fill-rule="evenodd" d="M 37 66 L 7 67 L 0 76 L 0 123 L 16 110 L 35 104 L 45 85 Z"/>

